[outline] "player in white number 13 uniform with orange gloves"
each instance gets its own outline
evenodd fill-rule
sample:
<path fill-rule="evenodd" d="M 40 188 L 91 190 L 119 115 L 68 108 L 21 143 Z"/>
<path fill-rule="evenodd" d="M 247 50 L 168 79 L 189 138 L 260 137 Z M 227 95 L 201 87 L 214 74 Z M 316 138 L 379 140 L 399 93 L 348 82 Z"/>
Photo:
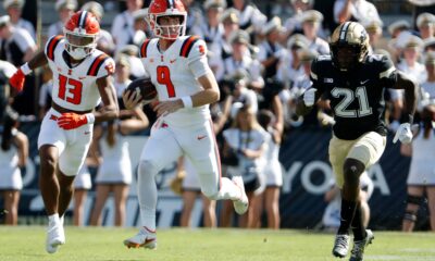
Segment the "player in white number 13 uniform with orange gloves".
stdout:
<path fill-rule="evenodd" d="M 49 217 L 46 250 L 53 253 L 65 243 L 63 214 L 73 194 L 73 181 L 82 167 L 96 122 L 116 119 L 116 94 L 110 75 L 114 62 L 96 49 L 100 25 L 95 16 L 80 11 L 64 25 L 64 36 L 51 37 L 37 53 L 10 78 L 22 91 L 25 75 L 48 64 L 53 73 L 52 104 L 42 120 L 38 149 L 39 187 Z M 102 100 L 103 107 L 92 112 Z"/>

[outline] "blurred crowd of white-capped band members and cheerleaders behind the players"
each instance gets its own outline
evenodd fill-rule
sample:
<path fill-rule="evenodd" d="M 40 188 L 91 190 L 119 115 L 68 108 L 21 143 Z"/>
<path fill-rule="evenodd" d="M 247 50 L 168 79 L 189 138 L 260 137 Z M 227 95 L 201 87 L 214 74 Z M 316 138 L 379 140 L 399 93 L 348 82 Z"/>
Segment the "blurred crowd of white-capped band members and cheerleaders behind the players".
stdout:
<path fill-rule="evenodd" d="M 219 206 L 203 198 L 203 226 L 282 227 L 281 212 L 290 202 L 279 202 L 283 187 L 283 167 L 279 147 L 295 132 L 331 133 L 334 120 L 327 101 L 321 101 L 304 117 L 295 114 L 295 100 L 308 88 L 310 65 L 318 55 L 328 54 L 328 37 L 345 21 L 361 23 L 369 36 L 370 53 L 389 55 L 398 70 L 411 76 L 421 86 L 417 124 L 421 124 L 422 141 L 400 148 L 412 161 L 427 163 L 433 159 L 435 139 L 435 1 L 431 0 L 183 0 L 188 10 L 187 33 L 199 35 L 208 46 L 210 67 L 221 88 L 221 101 L 212 104 L 215 133 L 221 145 L 225 174 L 243 173 L 250 198 L 248 214 L 235 221 L 232 208 Z M 2 146 L 0 150 L 0 191 L 3 194 L 3 214 L 7 224 L 16 224 L 18 215 L 20 166 L 26 165 L 29 147 L 35 140 L 20 132 L 20 122 L 38 124 L 51 104 L 51 73 L 45 69 L 27 76 L 23 94 L 12 98 L 8 78 L 15 67 L 27 62 L 44 48 L 48 37 L 63 34 L 63 23 L 77 10 L 92 12 L 100 21 L 98 49 L 115 59 L 114 86 L 119 98 L 130 80 L 147 76 L 139 59 L 139 47 L 152 32 L 146 21 L 148 0 L 76 1 L 76 0 L 4 0 L 0 7 L 0 117 Z M 402 92 L 385 92 L 386 122 L 395 132 L 401 122 Z M 121 100 L 120 100 L 121 102 Z M 8 110 L 5 109 L 8 107 Z M 136 113 L 136 121 L 121 120 L 96 126 L 96 137 L 87 166 L 76 178 L 74 224 L 101 224 L 105 199 L 113 194 L 115 225 L 125 225 L 126 199 L 132 183 L 127 134 L 147 135 L 156 115 L 148 107 Z M 249 130 L 245 144 L 234 144 L 235 136 Z M 265 132 L 263 132 L 265 130 Z M 21 135 L 16 135 L 20 133 Z M 265 138 L 264 133 L 268 133 Z M 8 140 L 17 139 L 11 149 Z M 418 135 L 415 140 L 420 140 Z M 236 139 L 238 140 L 238 139 Z M 3 146 L 4 144 L 4 146 Z M 415 148 L 415 146 L 418 146 Z M 431 147 L 432 146 L 432 147 Z M 246 158 L 240 149 L 257 151 Z M 431 149 L 432 148 L 432 149 Z M 12 152 L 11 152 L 12 151 Z M 423 151 L 423 152 L 422 152 Z M 293 151 L 291 153 L 298 153 Z M 319 156 L 324 158 L 325 156 Z M 431 158 L 432 157 L 432 158 Z M 11 163 L 13 162 L 13 164 Z M 109 165 L 109 163 L 113 163 Z M 179 159 L 171 188 L 182 195 L 183 211 L 179 225 L 189 226 L 199 183 L 186 159 Z M 411 170 L 412 169 L 411 162 Z M 418 164 L 418 163 L 414 163 Z M 421 163 L 420 163 L 421 164 Z M 427 166 L 435 173 L 435 166 Z M 25 171 L 22 169 L 22 171 Z M 414 170 L 415 171 L 415 170 Z M 10 181 L 2 184 L 9 172 Z M 419 172 L 419 171 L 417 171 Z M 369 201 L 373 184 L 369 175 L 362 177 Z M 92 184 L 94 183 L 94 184 Z M 334 181 L 328 181 L 325 200 L 330 202 L 320 226 L 334 228 L 339 223 L 339 197 Z M 94 186 L 92 186 L 94 185 Z M 412 231 L 419 206 L 428 199 L 430 226 L 435 229 L 435 178 L 425 183 L 408 181 L 413 201 L 403 204 L 402 228 Z M 94 211 L 84 217 L 86 191 L 96 192 Z M 338 198 L 337 198 L 338 197 Z M 335 206 L 335 207 L 334 207 Z M 407 208 L 407 211 L 405 211 Z M 370 219 L 365 208 L 366 223 Z M 400 217 L 400 220 L 401 220 Z M 315 224 L 312 224 L 314 226 Z"/>

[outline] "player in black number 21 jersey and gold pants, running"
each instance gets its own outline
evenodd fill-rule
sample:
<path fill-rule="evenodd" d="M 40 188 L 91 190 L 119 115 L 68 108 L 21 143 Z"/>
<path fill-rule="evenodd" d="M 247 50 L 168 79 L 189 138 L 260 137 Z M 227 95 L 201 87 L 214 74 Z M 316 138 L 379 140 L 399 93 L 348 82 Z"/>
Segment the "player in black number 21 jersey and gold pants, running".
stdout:
<path fill-rule="evenodd" d="M 341 220 L 333 254 L 343 258 L 349 249 L 349 227 L 353 232 L 350 260 L 363 260 L 373 233 L 361 221 L 359 177 L 382 156 L 386 145 L 385 88 L 405 89 L 408 119 L 397 129 L 398 139 L 412 139 L 411 125 L 418 87 L 395 69 L 389 58 L 368 54 L 369 35 L 356 22 L 346 22 L 333 33 L 331 55 L 320 55 L 312 64 L 311 88 L 299 99 L 297 113 L 306 114 L 323 95 L 331 100 L 335 125 L 330 142 L 330 161 L 341 189 Z"/>

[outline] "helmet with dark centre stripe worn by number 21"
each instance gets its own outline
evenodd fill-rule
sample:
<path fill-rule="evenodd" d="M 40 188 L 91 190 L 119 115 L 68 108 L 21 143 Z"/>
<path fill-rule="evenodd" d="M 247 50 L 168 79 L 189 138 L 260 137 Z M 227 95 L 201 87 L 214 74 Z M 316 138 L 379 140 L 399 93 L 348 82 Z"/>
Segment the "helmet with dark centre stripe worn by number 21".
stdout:
<path fill-rule="evenodd" d="M 369 53 L 369 35 L 357 22 L 345 22 L 333 33 L 330 41 L 334 66 L 347 72 L 363 63 Z"/>

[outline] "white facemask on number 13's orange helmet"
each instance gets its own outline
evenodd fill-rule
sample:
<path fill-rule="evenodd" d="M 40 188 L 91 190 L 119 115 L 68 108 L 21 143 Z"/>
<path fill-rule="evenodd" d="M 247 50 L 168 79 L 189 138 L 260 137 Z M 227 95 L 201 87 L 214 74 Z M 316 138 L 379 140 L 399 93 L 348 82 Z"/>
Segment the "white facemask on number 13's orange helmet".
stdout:
<path fill-rule="evenodd" d="M 97 47 L 97 35 L 74 33 L 64 29 L 66 39 L 65 50 L 75 60 L 85 59 L 91 54 Z"/>

